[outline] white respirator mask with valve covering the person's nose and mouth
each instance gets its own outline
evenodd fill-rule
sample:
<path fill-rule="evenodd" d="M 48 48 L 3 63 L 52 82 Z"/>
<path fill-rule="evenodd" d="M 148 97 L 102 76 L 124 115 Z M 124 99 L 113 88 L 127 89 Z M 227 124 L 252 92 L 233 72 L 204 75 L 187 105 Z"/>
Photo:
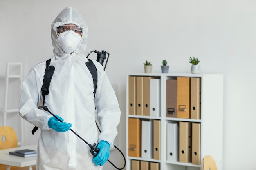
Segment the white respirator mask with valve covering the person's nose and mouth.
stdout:
<path fill-rule="evenodd" d="M 69 31 L 60 33 L 58 36 L 58 40 L 61 44 L 61 48 L 66 53 L 72 53 L 77 49 L 77 46 L 81 41 L 81 35 L 78 33 L 75 33 L 72 30 L 69 30 Z"/>

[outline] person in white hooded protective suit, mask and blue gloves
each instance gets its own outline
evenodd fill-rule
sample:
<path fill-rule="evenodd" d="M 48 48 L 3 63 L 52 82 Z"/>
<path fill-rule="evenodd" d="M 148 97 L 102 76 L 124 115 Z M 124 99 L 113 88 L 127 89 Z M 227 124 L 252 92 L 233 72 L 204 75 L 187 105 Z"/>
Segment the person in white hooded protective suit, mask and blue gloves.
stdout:
<path fill-rule="evenodd" d="M 52 23 L 54 56 L 50 65 L 55 71 L 44 106 L 63 122 L 38 109 L 42 101 L 45 61 L 31 68 L 22 84 L 19 114 L 41 130 L 37 170 L 101 170 L 113 147 L 121 112 L 109 79 L 96 61 L 93 62 L 98 83 L 94 97 L 92 75 L 85 64 L 88 62 L 85 56 L 87 36 L 88 27 L 73 7 L 63 9 Z M 95 108 L 101 126 L 99 139 Z M 70 131 L 71 126 L 89 144 L 99 142 L 96 157 L 90 153 L 89 146 Z"/>

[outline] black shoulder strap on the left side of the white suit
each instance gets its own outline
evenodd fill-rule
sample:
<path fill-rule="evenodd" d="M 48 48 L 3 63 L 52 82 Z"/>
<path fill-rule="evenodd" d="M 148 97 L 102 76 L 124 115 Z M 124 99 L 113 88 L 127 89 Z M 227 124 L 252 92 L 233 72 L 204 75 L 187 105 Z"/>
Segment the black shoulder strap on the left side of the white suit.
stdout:
<path fill-rule="evenodd" d="M 42 91 L 42 96 L 43 96 L 43 105 L 45 105 L 45 95 L 49 94 L 49 87 L 50 87 L 50 83 L 52 80 L 52 75 L 54 73 L 55 67 L 54 66 L 50 66 L 51 63 L 51 59 L 47 60 L 45 63 L 45 75 L 43 78 L 43 85 L 41 88 Z M 34 133 L 36 132 L 36 130 L 38 130 L 38 127 L 34 127 L 32 130 L 32 135 L 34 135 Z"/>

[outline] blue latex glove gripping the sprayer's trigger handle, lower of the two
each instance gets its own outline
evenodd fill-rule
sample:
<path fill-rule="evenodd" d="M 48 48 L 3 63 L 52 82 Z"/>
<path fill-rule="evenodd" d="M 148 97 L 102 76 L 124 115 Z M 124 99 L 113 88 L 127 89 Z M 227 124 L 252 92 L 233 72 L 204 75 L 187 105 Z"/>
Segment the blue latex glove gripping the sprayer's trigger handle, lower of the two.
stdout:
<path fill-rule="evenodd" d="M 95 163 L 96 166 L 98 165 L 103 166 L 109 157 L 110 144 L 106 141 L 100 141 L 98 144 L 98 148 L 99 148 L 99 153 L 96 157 L 92 159 L 92 161 L 93 163 Z"/>

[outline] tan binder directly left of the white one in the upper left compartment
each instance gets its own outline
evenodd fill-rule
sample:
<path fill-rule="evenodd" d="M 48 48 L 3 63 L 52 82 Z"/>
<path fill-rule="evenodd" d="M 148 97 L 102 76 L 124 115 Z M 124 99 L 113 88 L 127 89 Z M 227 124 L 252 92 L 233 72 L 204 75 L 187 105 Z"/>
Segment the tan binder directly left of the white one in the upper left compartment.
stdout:
<path fill-rule="evenodd" d="M 143 93 L 144 93 L 144 104 L 143 104 L 143 115 L 150 116 L 150 79 L 155 79 L 157 77 L 146 76 L 143 77 Z"/>

